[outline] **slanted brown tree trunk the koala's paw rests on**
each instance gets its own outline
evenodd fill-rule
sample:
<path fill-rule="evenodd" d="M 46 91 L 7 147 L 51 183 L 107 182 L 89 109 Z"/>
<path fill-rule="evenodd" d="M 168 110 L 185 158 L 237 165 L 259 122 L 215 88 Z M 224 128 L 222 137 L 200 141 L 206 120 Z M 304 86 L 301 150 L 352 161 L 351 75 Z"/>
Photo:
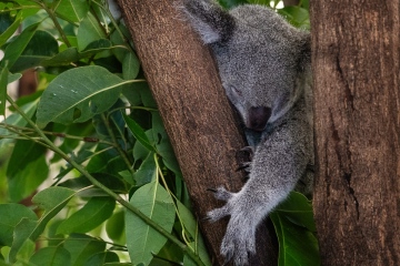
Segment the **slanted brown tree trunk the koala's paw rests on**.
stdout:
<path fill-rule="evenodd" d="M 222 265 L 220 244 L 227 221 L 201 221 L 221 206 L 209 187 L 239 191 L 236 152 L 246 145 L 221 88 L 209 50 L 169 0 L 119 0 L 147 80 L 174 147 L 193 208 L 214 265 Z M 276 243 L 266 226 L 258 234 L 252 265 L 276 265 Z M 267 250 L 267 252 L 266 252 Z"/>

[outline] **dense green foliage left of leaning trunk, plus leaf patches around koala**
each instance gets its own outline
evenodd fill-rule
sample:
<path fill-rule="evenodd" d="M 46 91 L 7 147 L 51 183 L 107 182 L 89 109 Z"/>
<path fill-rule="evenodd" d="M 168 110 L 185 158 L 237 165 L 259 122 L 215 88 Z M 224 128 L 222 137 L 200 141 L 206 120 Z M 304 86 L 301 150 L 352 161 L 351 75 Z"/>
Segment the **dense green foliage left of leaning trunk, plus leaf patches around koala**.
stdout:
<path fill-rule="evenodd" d="M 0 50 L 0 265 L 211 265 L 128 30 L 107 1 L 1 1 Z M 7 84 L 32 68 L 38 92 L 12 100 Z M 317 262 L 310 209 L 294 195 L 271 216 L 281 265 Z M 300 238 L 309 247 L 298 249 Z"/>

